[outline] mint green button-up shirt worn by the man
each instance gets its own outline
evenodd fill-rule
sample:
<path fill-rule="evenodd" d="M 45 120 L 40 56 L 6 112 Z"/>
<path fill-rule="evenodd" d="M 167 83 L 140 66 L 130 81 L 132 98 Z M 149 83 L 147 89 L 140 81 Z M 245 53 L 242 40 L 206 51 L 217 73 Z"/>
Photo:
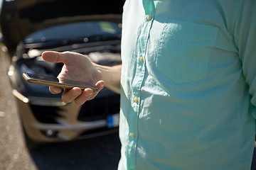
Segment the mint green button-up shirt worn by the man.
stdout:
<path fill-rule="evenodd" d="M 127 0 L 119 169 L 250 169 L 255 0 Z"/>

